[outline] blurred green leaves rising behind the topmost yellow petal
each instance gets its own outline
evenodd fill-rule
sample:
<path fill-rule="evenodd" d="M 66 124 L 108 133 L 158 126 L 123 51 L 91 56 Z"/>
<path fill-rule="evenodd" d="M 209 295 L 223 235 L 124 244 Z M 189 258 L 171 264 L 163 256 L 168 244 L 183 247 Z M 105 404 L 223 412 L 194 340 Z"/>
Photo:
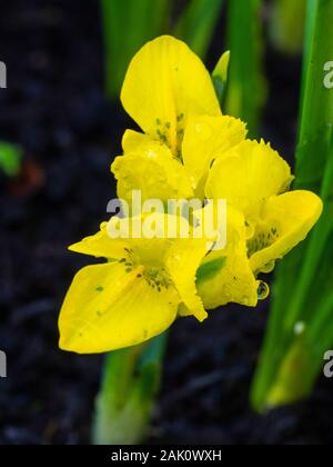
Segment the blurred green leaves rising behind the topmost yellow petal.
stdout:
<path fill-rule="evenodd" d="M 101 0 L 105 50 L 107 92 L 118 99 L 128 66 L 135 52 L 162 33 L 184 40 L 204 58 L 223 0 L 189 0 L 175 27 L 175 0 Z"/>

